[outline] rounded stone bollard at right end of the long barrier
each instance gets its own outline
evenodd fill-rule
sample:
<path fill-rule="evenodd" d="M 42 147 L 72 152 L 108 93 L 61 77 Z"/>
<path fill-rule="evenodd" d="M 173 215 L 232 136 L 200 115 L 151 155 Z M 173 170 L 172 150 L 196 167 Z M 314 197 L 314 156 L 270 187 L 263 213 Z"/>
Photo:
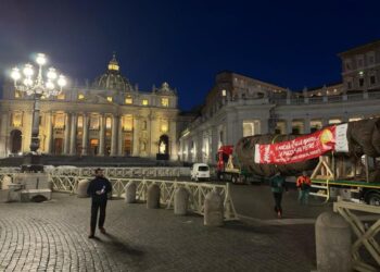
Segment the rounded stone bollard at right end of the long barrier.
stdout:
<path fill-rule="evenodd" d="M 221 197 L 210 191 L 204 199 L 204 225 L 220 226 L 224 224 L 224 207 Z"/>

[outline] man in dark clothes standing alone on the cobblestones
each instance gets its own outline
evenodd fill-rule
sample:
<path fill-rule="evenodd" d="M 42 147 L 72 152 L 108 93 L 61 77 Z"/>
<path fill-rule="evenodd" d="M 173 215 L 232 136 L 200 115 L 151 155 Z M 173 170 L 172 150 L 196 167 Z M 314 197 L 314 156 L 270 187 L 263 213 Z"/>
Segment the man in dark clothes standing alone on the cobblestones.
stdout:
<path fill-rule="evenodd" d="M 91 232 L 88 236 L 89 238 L 94 237 L 94 232 L 97 227 L 98 210 L 100 209 L 99 214 L 99 230 L 101 233 L 105 234 L 104 220 L 105 220 L 105 207 L 107 200 L 107 193 L 112 190 L 111 183 L 103 175 L 103 170 L 96 170 L 96 178 L 93 178 L 88 188 L 87 195 L 92 198 L 91 201 Z"/>

